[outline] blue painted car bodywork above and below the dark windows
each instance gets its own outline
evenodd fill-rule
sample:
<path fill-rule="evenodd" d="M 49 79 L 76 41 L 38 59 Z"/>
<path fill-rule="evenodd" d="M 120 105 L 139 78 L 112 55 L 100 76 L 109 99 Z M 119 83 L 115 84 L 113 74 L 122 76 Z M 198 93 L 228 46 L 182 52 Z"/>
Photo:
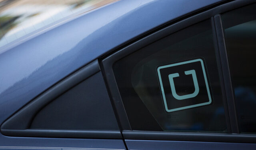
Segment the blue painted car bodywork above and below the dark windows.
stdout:
<path fill-rule="evenodd" d="M 98 59 L 100 70 L 108 72 L 104 59 L 114 52 L 140 42 L 154 34 L 164 36 L 161 30 L 168 26 L 194 24 L 200 17 L 215 16 L 221 12 L 251 4 L 250 0 L 120 0 L 89 12 L 62 20 L 58 24 L 40 29 L 0 50 L 0 122 L 10 118 L 60 84 L 80 69 Z M 193 18 L 194 17 L 194 18 Z M 182 23 L 183 22 L 183 23 Z M 176 27 L 173 27 L 176 28 Z M 181 27 L 180 27 L 181 28 Z M 172 29 L 174 30 L 174 29 Z M 161 34 L 158 34 L 161 32 Z M 155 35 L 158 34 L 158 35 Z M 150 41 L 150 39 L 147 39 Z M 143 42 L 142 42 L 143 43 Z M 145 45 L 145 44 L 144 44 Z M 105 74 L 105 75 L 104 75 Z M 105 82 L 110 77 L 103 73 Z M 113 97 L 111 86 L 107 88 Z M 115 100 L 115 98 L 113 98 Z M 112 102 L 115 108 L 118 104 Z M 114 109 L 115 109 L 114 108 Z M 122 120 L 124 110 L 114 111 Z M 15 116 L 15 115 L 14 115 Z M 24 116 L 26 117 L 26 116 Z M 232 118 L 232 117 L 230 117 Z M 232 122 L 232 119 L 231 121 Z M 255 134 L 202 134 L 160 132 L 156 138 L 151 134 L 130 133 L 122 123 L 117 134 L 104 138 L 99 134 L 88 136 L 8 136 L 0 134 L 0 149 L 255 149 Z M 100 132 L 100 131 L 99 131 Z M 127 132 L 127 133 L 126 133 Z M 126 133 L 126 134 L 125 134 Z M 73 133 L 75 134 L 75 133 Z M 104 133 L 106 134 L 106 133 Z M 114 134 L 110 132 L 110 134 Z M 200 134 L 200 133 L 199 133 Z M 66 135 L 66 134 L 65 134 Z M 234 135 L 234 136 L 233 136 Z M 102 138 L 100 138 L 102 136 Z M 166 138 L 164 138 L 166 137 Z M 178 138 L 180 137 L 180 138 Z M 170 139 L 170 140 L 166 140 Z M 176 140 L 177 139 L 177 140 Z"/>

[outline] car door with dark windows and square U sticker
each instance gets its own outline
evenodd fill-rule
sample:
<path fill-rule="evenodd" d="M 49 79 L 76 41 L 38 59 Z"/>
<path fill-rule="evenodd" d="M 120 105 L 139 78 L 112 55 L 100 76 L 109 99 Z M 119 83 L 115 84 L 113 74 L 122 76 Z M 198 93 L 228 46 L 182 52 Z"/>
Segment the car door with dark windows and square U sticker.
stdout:
<path fill-rule="evenodd" d="M 255 10 L 209 8 L 101 59 L 129 150 L 256 148 Z"/>

